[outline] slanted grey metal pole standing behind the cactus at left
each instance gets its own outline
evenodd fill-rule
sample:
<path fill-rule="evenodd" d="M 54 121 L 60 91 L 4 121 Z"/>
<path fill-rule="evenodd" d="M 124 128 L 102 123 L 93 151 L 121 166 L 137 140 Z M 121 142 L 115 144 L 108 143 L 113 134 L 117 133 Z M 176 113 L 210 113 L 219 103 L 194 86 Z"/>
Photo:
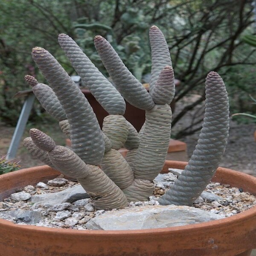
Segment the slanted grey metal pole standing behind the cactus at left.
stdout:
<path fill-rule="evenodd" d="M 6 160 L 14 159 L 17 154 L 17 150 L 20 145 L 20 140 L 25 131 L 26 123 L 29 119 L 29 114 L 32 109 L 34 99 L 35 99 L 35 96 L 33 93 L 30 93 L 26 97 L 26 100 L 25 100 L 22 110 L 20 112 L 20 117 L 17 122 L 14 134 L 12 136 L 12 141 L 11 141 L 10 147 L 9 147 L 7 155 L 6 155 Z"/>

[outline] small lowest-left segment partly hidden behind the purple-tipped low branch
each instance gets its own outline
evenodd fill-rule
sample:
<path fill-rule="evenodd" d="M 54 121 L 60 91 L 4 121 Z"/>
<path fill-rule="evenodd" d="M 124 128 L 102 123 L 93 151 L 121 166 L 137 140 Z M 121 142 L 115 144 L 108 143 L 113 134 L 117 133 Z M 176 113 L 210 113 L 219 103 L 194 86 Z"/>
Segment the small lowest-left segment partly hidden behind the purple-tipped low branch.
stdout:
<path fill-rule="evenodd" d="M 35 143 L 33 143 L 30 137 L 27 137 L 23 140 L 23 144 L 25 148 L 32 154 L 33 157 L 36 157 L 38 160 L 42 161 L 43 163 L 47 164 L 48 166 L 55 169 L 55 166 L 52 164 L 51 160 L 49 159 L 49 155 L 47 151 L 44 151 L 38 148 Z"/>

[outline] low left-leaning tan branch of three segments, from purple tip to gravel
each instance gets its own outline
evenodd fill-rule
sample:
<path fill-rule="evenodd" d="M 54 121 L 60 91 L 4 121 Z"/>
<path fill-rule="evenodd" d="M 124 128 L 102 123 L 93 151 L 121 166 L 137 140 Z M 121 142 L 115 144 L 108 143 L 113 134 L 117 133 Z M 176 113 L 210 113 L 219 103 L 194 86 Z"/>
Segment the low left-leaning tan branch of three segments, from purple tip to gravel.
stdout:
<path fill-rule="evenodd" d="M 30 136 L 38 148 L 48 152 L 55 169 L 78 179 L 93 199 L 96 209 L 117 209 L 127 206 L 127 199 L 122 190 L 98 166 L 87 165 L 69 148 L 56 146 L 48 135 L 38 129 L 31 129 Z"/>

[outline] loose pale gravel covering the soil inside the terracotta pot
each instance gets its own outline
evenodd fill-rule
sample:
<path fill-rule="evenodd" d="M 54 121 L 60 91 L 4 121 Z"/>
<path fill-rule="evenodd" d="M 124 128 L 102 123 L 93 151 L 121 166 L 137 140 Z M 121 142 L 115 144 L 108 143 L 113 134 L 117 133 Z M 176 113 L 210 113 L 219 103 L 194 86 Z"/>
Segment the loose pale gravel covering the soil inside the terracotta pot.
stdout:
<path fill-rule="evenodd" d="M 154 195 L 145 202 L 130 202 L 128 207 L 159 205 L 157 198 L 166 192 L 176 178 L 177 176 L 172 173 L 160 175 L 155 183 L 161 183 L 161 186 L 155 188 Z M 56 184 L 56 186 L 49 185 L 47 187 L 29 185 L 19 193 L 26 193 L 30 196 L 42 193 L 55 193 L 72 186 L 77 186 L 77 183 L 67 181 L 63 186 Z M 215 197 L 215 201 L 208 201 L 206 198 L 199 197 L 193 206 L 207 212 L 219 214 L 222 218 L 235 215 L 256 206 L 255 196 L 243 192 L 242 189 L 233 188 L 229 184 L 210 183 L 205 191 L 218 195 L 218 197 Z M 0 218 L 8 219 L 21 225 L 34 224 L 35 226 L 42 227 L 85 230 L 87 229 L 85 224 L 91 218 L 104 214 L 105 212 L 105 210 L 96 210 L 90 198 L 52 206 L 51 204 L 40 204 L 40 202 L 33 204 L 30 202 L 29 196 L 26 201 L 23 198 L 17 201 L 17 199 L 13 199 L 14 194 L 6 198 L 3 202 L 0 202 Z M 17 215 L 21 210 L 22 215 Z M 116 209 L 112 211 L 116 211 Z M 34 213 L 40 213 L 40 215 Z M 33 216 L 36 216 L 36 220 L 33 219 Z"/>

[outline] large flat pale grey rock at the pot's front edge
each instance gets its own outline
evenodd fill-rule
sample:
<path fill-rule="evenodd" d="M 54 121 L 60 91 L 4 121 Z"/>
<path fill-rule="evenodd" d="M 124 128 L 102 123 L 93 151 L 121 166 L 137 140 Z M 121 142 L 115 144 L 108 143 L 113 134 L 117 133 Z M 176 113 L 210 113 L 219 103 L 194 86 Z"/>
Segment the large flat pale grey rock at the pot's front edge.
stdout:
<path fill-rule="evenodd" d="M 106 211 L 85 225 L 92 230 L 134 230 L 201 223 L 221 216 L 188 206 L 143 206 Z"/>

